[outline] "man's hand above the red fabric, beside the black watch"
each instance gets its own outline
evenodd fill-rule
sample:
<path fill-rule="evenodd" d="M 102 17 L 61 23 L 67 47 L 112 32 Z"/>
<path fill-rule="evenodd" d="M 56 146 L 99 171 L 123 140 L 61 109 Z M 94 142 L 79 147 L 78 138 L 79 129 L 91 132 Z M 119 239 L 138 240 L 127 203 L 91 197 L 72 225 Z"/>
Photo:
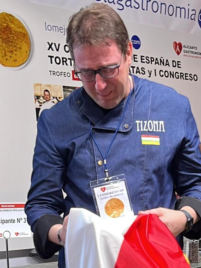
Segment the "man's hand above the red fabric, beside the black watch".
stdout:
<path fill-rule="evenodd" d="M 156 214 L 158 218 L 168 227 L 174 237 L 178 236 L 186 228 L 187 217 L 179 210 L 159 207 L 157 209 L 138 212 L 138 215 L 142 214 Z"/>

